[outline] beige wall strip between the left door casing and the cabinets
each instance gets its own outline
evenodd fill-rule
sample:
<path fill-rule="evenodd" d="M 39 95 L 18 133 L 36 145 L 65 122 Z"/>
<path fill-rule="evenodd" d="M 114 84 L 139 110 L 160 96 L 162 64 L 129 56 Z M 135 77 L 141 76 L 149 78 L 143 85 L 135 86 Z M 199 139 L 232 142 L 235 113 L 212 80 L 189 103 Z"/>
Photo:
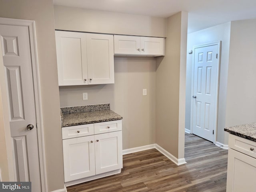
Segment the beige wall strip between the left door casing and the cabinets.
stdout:
<path fill-rule="evenodd" d="M 52 0 L 0 0 L 0 17 L 35 20 L 48 191 L 64 188 Z"/>

